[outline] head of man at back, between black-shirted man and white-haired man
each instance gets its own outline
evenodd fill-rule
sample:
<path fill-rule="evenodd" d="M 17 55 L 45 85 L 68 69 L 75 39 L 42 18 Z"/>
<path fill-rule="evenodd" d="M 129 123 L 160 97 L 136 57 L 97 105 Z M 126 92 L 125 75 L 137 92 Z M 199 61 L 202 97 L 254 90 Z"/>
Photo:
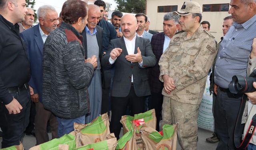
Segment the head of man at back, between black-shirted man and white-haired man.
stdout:
<path fill-rule="evenodd" d="M 18 23 L 20 26 L 20 33 L 31 28 L 33 26 L 35 20 L 35 12 L 32 8 L 27 7 L 28 12 L 26 12 L 25 20 L 23 22 Z"/>

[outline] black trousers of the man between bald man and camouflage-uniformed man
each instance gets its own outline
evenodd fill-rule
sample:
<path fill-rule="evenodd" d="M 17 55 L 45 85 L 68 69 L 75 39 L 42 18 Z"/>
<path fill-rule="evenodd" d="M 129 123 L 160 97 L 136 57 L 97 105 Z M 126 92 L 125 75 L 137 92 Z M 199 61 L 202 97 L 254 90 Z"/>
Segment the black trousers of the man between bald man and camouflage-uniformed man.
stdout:
<path fill-rule="evenodd" d="M 156 111 L 156 130 L 159 131 L 159 121 L 162 111 L 164 96 L 162 93 L 151 93 L 148 100 L 148 110 L 155 109 Z"/>

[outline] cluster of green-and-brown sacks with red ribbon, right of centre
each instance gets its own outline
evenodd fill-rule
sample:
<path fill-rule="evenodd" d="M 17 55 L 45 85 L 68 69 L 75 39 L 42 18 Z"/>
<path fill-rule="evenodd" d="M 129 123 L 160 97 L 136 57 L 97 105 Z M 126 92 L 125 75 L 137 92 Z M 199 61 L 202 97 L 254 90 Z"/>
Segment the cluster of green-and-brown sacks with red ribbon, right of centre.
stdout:
<path fill-rule="evenodd" d="M 164 125 L 157 132 L 154 110 L 136 114 L 134 118 L 122 116 L 121 122 L 128 132 L 118 140 L 116 150 L 176 150 L 178 125 Z"/>

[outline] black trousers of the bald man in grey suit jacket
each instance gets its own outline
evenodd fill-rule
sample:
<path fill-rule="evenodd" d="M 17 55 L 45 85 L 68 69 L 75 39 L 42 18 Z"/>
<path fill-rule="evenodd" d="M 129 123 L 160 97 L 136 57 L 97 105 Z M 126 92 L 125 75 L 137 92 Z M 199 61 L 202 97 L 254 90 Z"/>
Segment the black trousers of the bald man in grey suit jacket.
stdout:
<path fill-rule="evenodd" d="M 120 130 L 122 124 L 120 120 L 122 116 L 126 114 L 126 108 L 129 105 L 131 115 L 139 114 L 144 112 L 146 96 L 136 96 L 134 92 L 134 87 L 131 86 L 130 93 L 126 97 L 111 97 L 111 122 L 110 122 L 110 132 L 114 133 L 116 138 L 119 139 Z"/>

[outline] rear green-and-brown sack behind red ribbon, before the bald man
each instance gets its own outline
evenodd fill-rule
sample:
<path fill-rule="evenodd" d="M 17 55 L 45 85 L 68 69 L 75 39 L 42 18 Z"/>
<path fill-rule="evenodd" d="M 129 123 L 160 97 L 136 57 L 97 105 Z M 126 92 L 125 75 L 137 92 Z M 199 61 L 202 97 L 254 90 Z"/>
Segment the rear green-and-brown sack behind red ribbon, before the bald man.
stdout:
<path fill-rule="evenodd" d="M 149 126 L 156 129 L 156 112 L 154 109 L 148 110 L 147 112 L 135 114 L 133 116 L 122 116 L 120 122 L 123 125 L 123 134 L 128 132 L 134 123 L 133 120 L 138 120 L 138 123 L 141 122 L 142 126 Z"/>

